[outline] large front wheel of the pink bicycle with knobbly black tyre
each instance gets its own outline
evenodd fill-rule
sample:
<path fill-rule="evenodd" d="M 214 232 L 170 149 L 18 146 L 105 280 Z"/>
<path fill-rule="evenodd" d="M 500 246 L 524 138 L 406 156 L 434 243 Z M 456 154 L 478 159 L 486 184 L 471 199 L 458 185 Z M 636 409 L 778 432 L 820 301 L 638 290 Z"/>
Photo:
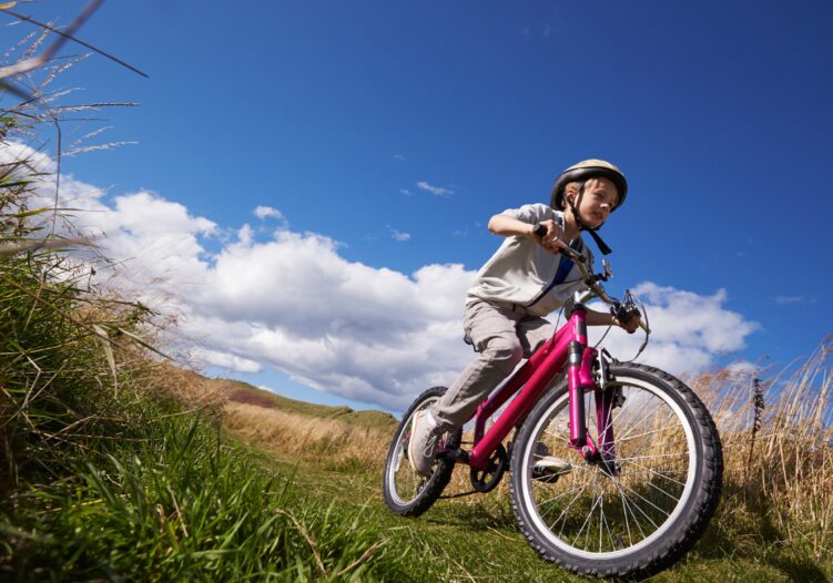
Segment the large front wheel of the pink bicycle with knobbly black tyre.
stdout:
<path fill-rule="evenodd" d="M 545 560 L 586 575 L 647 575 L 671 565 L 705 529 L 720 498 L 721 443 L 703 403 L 678 379 L 641 365 L 610 372 L 606 390 L 619 402 L 611 412 L 616 463 L 586 461 L 569 447 L 562 382 L 518 436 L 512 509 Z M 583 398 L 596 440 L 593 391 Z"/>

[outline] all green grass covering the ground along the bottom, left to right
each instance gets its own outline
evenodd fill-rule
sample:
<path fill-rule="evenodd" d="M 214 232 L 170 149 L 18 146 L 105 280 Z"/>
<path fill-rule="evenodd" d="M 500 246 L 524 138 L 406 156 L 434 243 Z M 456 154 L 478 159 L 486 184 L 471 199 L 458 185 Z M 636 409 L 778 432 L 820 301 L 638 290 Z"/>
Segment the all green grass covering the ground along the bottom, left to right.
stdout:
<path fill-rule="evenodd" d="M 209 419 L 163 417 L 173 405 L 152 413 L 144 440 L 79 460 L 64 479 L 30 484 L 3 505 L 0 579 L 581 580 L 538 559 L 502 485 L 402 519 L 382 502 L 377 469 L 280 460 L 224 439 Z M 833 575 L 727 502 L 694 551 L 654 581 Z"/>

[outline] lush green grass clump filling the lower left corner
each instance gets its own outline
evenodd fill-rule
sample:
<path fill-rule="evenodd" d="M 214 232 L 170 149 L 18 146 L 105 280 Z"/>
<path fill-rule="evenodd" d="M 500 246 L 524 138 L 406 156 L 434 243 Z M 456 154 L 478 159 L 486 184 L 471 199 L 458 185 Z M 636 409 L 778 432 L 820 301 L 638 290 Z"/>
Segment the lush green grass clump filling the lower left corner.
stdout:
<path fill-rule="evenodd" d="M 407 573 L 359 504 L 309 498 L 194 415 L 60 481 L 0 519 L 0 577 L 39 581 L 393 581 Z"/>

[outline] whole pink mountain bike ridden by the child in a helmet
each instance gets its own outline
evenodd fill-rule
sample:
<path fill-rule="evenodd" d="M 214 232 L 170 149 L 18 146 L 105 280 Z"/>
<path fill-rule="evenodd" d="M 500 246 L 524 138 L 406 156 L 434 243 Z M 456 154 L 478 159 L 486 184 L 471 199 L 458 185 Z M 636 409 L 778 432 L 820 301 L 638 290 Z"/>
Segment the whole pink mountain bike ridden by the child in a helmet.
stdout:
<path fill-rule="evenodd" d="M 583 301 L 598 297 L 624 316 L 636 309 L 633 298 L 628 294 L 620 303 L 607 295 L 599 284 L 610 275 L 607 265 L 605 274 L 592 275 L 581 255 L 562 253 L 579 266 L 587 296 L 480 405 L 470 443 L 461 442 L 461 431 L 445 436 L 429 478 L 408 462 L 410 426 L 446 388 L 417 397 L 390 443 L 385 502 L 397 514 L 417 516 L 440 497 L 456 463 L 470 467 L 477 492 L 494 489 L 509 470 L 516 520 L 542 559 L 596 576 L 656 573 L 691 549 L 718 505 L 720 437 L 680 380 L 588 346 Z M 650 330 L 642 327 L 647 340 Z M 507 451 L 501 442 L 519 422 Z"/>

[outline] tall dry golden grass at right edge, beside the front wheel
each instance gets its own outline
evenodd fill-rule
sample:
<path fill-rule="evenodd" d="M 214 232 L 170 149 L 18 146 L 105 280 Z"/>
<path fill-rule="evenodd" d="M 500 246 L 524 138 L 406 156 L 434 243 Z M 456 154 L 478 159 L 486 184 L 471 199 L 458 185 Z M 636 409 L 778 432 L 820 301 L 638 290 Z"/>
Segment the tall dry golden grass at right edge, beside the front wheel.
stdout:
<path fill-rule="evenodd" d="M 831 351 L 833 336 L 792 374 L 755 381 L 723 370 L 692 382 L 723 440 L 724 516 L 751 515 L 762 536 L 809 545 L 826 559 L 833 556 Z"/>

